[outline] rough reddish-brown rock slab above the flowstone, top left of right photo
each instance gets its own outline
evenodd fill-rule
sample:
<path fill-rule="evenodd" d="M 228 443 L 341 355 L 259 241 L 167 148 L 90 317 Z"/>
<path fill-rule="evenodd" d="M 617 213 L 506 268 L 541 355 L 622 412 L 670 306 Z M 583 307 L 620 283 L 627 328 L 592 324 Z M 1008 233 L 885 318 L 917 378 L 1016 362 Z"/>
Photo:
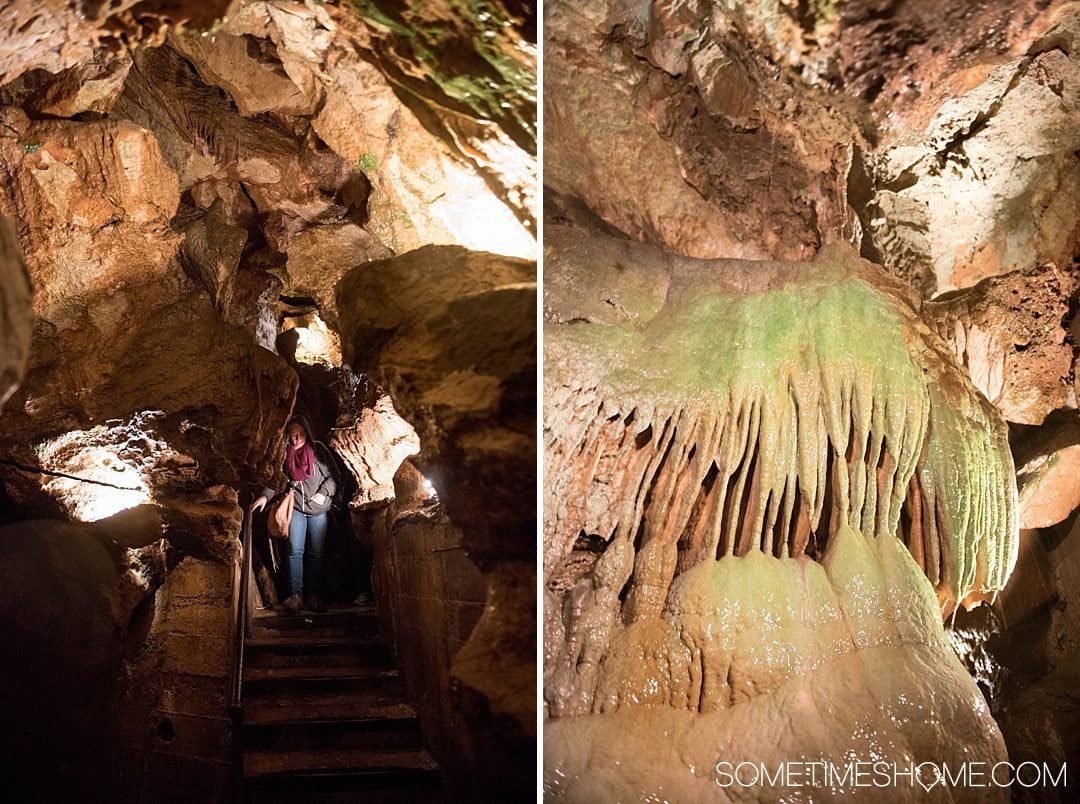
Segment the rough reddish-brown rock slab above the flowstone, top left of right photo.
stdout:
<path fill-rule="evenodd" d="M 545 186 L 689 256 L 805 259 L 854 239 L 853 126 L 797 99 L 735 37 L 703 35 L 707 16 L 696 3 L 545 8 Z"/>

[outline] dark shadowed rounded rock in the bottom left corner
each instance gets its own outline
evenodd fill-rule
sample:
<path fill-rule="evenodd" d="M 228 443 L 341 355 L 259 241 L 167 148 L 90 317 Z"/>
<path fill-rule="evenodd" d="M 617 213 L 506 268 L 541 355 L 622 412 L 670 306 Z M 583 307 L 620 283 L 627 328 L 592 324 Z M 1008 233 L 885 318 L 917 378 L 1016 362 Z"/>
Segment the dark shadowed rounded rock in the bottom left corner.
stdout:
<path fill-rule="evenodd" d="M 119 794 L 124 724 L 113 712 L 141 590 L 125 588 L 122 552 L 87 525 L 30 521 L 0 527 L 0 538 L 4 785 L 30 801 Z"/>

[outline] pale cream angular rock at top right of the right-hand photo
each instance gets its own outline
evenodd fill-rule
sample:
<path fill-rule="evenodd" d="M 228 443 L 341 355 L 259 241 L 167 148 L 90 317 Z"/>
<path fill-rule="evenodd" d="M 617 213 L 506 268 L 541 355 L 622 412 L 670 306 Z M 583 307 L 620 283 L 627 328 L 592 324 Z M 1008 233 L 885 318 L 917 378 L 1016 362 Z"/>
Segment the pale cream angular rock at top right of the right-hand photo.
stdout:
<path fill-rule="evenodd" d="M 1080 93 L 1070 44 L 1078 30 L 1080 13 L 1069 6 L 1026 53 L 883 149 L 870 231 L 887 266 L 917 267 L 947 291 L 1070 264 L 1080 243 L 1070 111 Z"/>

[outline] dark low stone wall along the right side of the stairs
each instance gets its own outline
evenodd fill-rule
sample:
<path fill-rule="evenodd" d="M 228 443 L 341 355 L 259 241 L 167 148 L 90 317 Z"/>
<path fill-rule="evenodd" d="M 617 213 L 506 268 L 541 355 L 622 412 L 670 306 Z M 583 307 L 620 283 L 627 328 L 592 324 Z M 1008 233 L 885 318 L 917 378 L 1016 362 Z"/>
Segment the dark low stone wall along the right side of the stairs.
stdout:
<path fill-rule="evenodd" d="M 527 799 L 536 734 L 522 722 L 536 678 L 524 640 L 511 634 L 535 629 L 535 571 L 504 562 L 482 573 L 422 483 L 403 464 L 396 498 L 369 520 L 379 614 L 454 800 Z"/>

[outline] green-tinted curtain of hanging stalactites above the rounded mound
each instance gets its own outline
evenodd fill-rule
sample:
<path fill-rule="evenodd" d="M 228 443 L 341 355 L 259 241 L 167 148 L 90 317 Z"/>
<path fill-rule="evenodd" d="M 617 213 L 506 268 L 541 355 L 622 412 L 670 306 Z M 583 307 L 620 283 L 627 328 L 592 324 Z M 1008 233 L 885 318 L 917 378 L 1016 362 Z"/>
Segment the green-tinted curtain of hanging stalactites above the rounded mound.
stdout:
<path fill-rule="evenodd" d="M 548 483 L 563 506 L 549 545 L 585 532 L 631 546 L 623 624 L 670 617 L 673 584 L 698 566 L 811 548 L 820 561 L 845 526 L 899 539 L 945 603 L 1004 584 L 1003 425 L 914 309 L 832 259 L 744 295 L 684 281 L 636 330 L 549 335 Z M 697 667 L 704 648 L 687 644 Z"/>

